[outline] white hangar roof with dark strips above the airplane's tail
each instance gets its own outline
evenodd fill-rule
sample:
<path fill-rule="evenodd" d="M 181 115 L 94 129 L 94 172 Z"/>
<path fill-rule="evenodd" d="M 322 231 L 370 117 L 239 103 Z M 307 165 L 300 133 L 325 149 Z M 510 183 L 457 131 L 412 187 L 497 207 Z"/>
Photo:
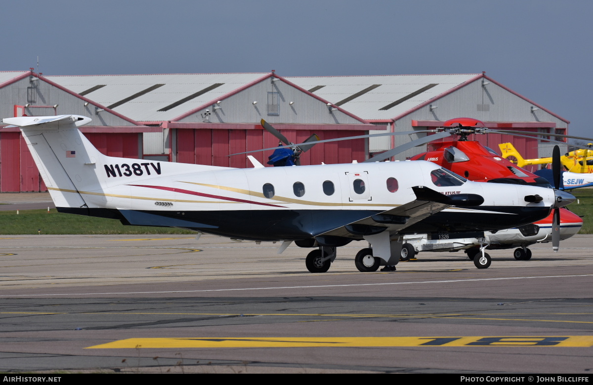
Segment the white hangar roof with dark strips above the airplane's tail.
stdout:
<path fill-rule="evenodd" d="M 44 76 L 135 121 L 170 121 L 269 73 Z"/>

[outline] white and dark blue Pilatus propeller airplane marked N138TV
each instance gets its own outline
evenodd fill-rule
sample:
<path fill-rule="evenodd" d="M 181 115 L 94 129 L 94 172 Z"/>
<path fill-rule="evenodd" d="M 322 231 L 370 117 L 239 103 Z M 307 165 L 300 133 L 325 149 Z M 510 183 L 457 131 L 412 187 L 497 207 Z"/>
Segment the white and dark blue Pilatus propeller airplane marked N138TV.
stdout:
<path fill-rule="evenodd" d="M 530 224 L 568 205 L 567 192 L 470 182 L 429 161 L 253 168 L 117 158 L 78 130 L 78 115 L 5 118 L 21 128 L 59 212 L 127 225 L 188 228 L 238 240 L 295 241 L 316 247 L 313 273 L 329 269 L 336 248 L 366 240 L 361 271 L 394 266 L 404 234 L 489 231 Z M 557 211 L 557 210 L 555 210 Z M 476 266 L 490 265 L 484 253 Z"/>

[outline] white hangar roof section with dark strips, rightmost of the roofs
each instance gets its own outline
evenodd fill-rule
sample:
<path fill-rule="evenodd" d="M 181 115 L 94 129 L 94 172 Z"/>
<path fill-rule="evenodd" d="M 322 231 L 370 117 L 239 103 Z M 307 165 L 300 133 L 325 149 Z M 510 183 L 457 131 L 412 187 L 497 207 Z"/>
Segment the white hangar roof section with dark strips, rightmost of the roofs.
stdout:
<path fill-rule="evenodd" d="M 366 120 L 393 119 L 477 79 L 459 75 L 287 76 L 320 98 Z"/>

